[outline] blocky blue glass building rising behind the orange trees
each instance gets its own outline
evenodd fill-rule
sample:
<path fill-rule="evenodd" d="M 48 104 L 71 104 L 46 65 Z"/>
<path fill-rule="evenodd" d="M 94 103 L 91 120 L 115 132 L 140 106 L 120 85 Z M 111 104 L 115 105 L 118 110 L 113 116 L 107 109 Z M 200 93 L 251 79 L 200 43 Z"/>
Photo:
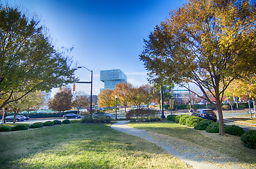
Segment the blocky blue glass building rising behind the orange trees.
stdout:
<path fill-rule="evenodd" d="M 120 69 L 100 70 L 100 81 L 104 82 L 104 89 L 115 89 L 115 84 L 127 82 L 127 75 Z M 100 89 L 102 92 L 103 89 Z"/>

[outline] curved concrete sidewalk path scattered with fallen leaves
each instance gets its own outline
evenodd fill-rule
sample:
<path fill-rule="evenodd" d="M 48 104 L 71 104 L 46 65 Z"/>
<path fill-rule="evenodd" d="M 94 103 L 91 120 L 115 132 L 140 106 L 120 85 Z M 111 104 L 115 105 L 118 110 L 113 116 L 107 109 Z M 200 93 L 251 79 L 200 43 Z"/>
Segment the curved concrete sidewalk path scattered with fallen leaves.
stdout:
<path fill-rule="evenodd" d="M 146 130 L 135 129 L 127 126 L 127 123 L 129 123 L 129 121 L 117 121 L 117 123 L 114 123 L 110 127 L 117 131 L 131 134 L 152 142 L 171 155 L 185 161 L 185 163 L 191 165 L 192 168 L 242 168 L 238 165 L 238 160 L 235 158 L 228 157 L 224 154 L 220 154 L 219 152 L 182 139 L 157 134 L 155 132 L 148 132 Z M 206 151 L 200 151 L 202 149 L 206 149 Z"/>

